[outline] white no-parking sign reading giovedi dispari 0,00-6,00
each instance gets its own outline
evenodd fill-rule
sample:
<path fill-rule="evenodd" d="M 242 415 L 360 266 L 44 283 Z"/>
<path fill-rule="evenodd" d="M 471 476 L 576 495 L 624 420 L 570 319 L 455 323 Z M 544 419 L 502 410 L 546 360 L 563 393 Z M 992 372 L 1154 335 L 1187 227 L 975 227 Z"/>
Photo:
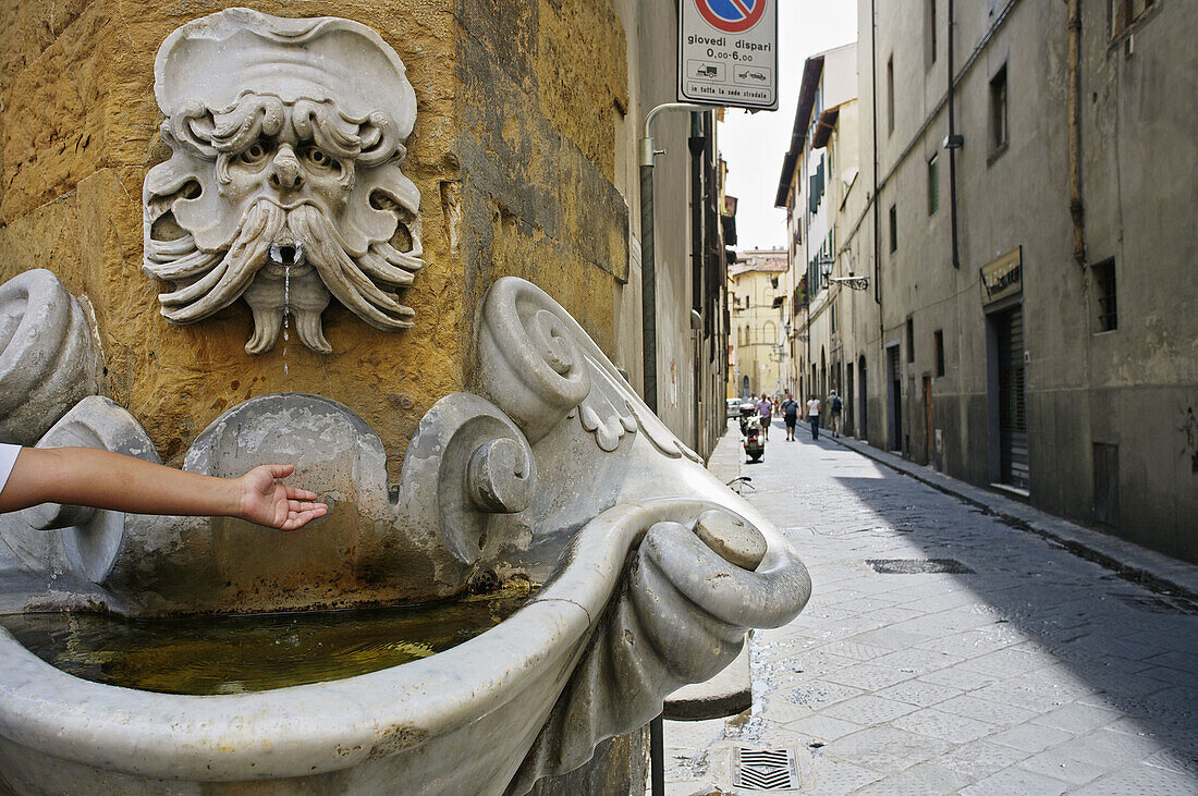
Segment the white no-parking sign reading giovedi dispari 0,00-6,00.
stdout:
<path fill-rule="evenodd" d="M 778 0 L 682 0 L 678 99 L 778 110 Z"/>

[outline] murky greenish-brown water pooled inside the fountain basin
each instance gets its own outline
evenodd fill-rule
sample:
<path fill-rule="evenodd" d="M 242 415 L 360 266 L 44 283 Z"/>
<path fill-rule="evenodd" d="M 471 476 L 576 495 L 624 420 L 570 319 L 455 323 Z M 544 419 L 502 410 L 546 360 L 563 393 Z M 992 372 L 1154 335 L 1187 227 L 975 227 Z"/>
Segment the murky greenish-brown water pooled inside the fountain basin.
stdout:
<path fill-rule="evenodd" d="M 17 640 L 84 680 L 173 694 L 267 691 L 376 672 L 461 644 L 531 594 L 514 582 L 423 606 L 132 620 L 93 612 L 0 615 Z"/>

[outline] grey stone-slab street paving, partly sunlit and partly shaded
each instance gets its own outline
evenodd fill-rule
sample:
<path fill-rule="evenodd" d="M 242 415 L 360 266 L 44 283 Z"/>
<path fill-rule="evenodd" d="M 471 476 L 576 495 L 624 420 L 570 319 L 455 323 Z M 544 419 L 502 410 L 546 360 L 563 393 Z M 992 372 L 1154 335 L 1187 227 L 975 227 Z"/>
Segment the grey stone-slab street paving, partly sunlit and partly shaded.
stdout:
<path fill-rule="evenodd" d="M 1198 792 L 1198 606 L 798 436 L 740 472 L 813 596 L 752 638 L 751 711 L 666 722 L 668 794 L 762 792 L 738 748 L 793 751 L 812 794 Z"/>

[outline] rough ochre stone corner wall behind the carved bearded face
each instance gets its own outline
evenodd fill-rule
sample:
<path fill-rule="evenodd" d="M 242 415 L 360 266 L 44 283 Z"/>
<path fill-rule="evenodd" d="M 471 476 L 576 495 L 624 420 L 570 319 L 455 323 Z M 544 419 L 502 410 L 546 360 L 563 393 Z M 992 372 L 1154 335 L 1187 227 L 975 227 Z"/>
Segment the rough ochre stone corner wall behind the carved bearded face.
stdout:
<path fill-rule="evenodd" d="M 334 303 L 333 354 L 280 340 L 250 357 L 241 302 L 190 327 L 159 315 L 162 285 L 140 271 L 141 182 L 168 157 L 153 59 L 177 26 L 235 5 L 361 22 L 407 67 L 418 116 L 404 171 L 428 262 L 401 293 L 415 328 L 379 332 Z M 0 57 L 0 278 L 46 267 L 90 299 L 103 389 L 164 461 L 230 406 L 305 391 L 365 418 L 395 478 L 419 418 L 467 383 L 477 302 L 503 274 L 536 281 L 611 348 L 612 280 L 628 268 L 612 124 L 628 77 L 609 2 L 5 0 Z"/>

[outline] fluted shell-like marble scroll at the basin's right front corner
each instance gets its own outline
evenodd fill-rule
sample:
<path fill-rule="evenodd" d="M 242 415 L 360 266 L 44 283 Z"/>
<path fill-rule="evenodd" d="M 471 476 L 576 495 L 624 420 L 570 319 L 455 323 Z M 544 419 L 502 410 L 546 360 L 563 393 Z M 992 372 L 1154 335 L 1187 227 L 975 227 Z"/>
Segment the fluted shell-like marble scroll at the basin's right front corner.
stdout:
<path fill-rule="evenodd" d="M 716 552 L 725 543 L 745 566 Z M 510 796 L 581 766 L 605 739 L 642 727 L 679 686 L 727 666 L 746 628 L 785 625 L 811 596 L 811 578 L 781 535 L 698 500 L 616 506 L 580 531 L 570 558 L 611 561 L 637 545 L 627 579 L 508 786 Z"/>

